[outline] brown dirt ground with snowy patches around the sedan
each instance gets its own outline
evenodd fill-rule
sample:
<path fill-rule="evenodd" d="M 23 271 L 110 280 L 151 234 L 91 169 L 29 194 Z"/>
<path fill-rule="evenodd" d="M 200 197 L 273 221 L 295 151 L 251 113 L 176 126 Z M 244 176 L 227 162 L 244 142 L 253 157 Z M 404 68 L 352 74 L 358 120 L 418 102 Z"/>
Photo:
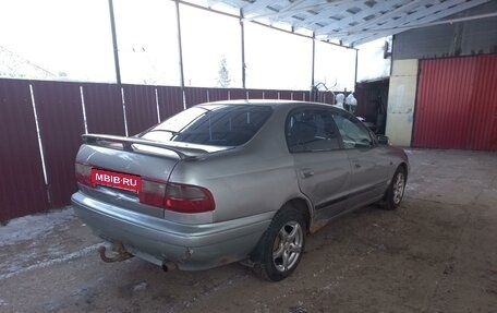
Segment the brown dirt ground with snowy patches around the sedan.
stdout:
<path fill-rule="evenodd" d="M 307 238 L 288 279 L 100 261 L 71 208 L 0 227 L 0 312 L 497 312 L 497 154 L 408 151 L 401 207 Z"/>

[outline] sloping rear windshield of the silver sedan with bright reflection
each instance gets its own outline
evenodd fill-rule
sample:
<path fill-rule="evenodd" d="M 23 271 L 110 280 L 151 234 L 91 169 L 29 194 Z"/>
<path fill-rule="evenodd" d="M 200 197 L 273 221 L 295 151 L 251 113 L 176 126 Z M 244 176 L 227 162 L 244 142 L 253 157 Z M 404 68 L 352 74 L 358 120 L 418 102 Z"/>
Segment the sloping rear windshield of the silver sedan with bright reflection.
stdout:
<path fill-rule="evenodd" d="M 219 105 L 184 110 L 142 135 L 159 142 L 213 146 L 246 143 L 271 115 L 267 106 Z"/>

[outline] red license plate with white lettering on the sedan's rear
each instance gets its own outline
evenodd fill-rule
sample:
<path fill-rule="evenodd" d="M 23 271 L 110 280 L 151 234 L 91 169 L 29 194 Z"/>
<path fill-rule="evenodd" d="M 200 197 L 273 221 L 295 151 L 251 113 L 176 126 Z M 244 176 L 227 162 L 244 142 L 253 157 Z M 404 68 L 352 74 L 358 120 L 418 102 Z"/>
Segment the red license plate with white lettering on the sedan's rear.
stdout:
<path fill-rule="evenodd" d="M 142 190 L 142 178 L 140 176 L 96 168 L 92 169 L 92 183 L 136 192 Z"/>

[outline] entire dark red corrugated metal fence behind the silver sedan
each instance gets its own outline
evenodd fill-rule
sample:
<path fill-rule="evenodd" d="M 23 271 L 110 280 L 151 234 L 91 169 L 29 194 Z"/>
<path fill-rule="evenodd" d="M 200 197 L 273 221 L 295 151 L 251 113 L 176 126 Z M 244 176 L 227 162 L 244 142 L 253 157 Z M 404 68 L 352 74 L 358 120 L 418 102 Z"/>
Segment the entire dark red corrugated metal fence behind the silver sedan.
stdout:
<path fill-rule="evenodd" d="M 0 79 L 0 220 L 70 203 L 76 190 L 74 157 L 85 127 L 92 133 L 116 135 L 124 135 L 128 127 L 128 134 L 134 135 L 183 110 L 183 95 L 186 107 L 207 100 L 308 99 L 302 91 L 186 87 L 183 94 L 175 86 Z"/>

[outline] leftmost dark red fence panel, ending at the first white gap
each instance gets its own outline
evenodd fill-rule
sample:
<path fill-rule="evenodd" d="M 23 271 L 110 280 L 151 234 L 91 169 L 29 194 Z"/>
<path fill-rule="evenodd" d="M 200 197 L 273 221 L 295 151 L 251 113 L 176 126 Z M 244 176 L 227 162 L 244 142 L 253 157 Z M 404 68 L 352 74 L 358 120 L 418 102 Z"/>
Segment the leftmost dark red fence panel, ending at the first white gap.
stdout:
<path fill-rule="evenodd" d="M 29 83 L 0 81 L 0 220 L 48 207 Z"/>

